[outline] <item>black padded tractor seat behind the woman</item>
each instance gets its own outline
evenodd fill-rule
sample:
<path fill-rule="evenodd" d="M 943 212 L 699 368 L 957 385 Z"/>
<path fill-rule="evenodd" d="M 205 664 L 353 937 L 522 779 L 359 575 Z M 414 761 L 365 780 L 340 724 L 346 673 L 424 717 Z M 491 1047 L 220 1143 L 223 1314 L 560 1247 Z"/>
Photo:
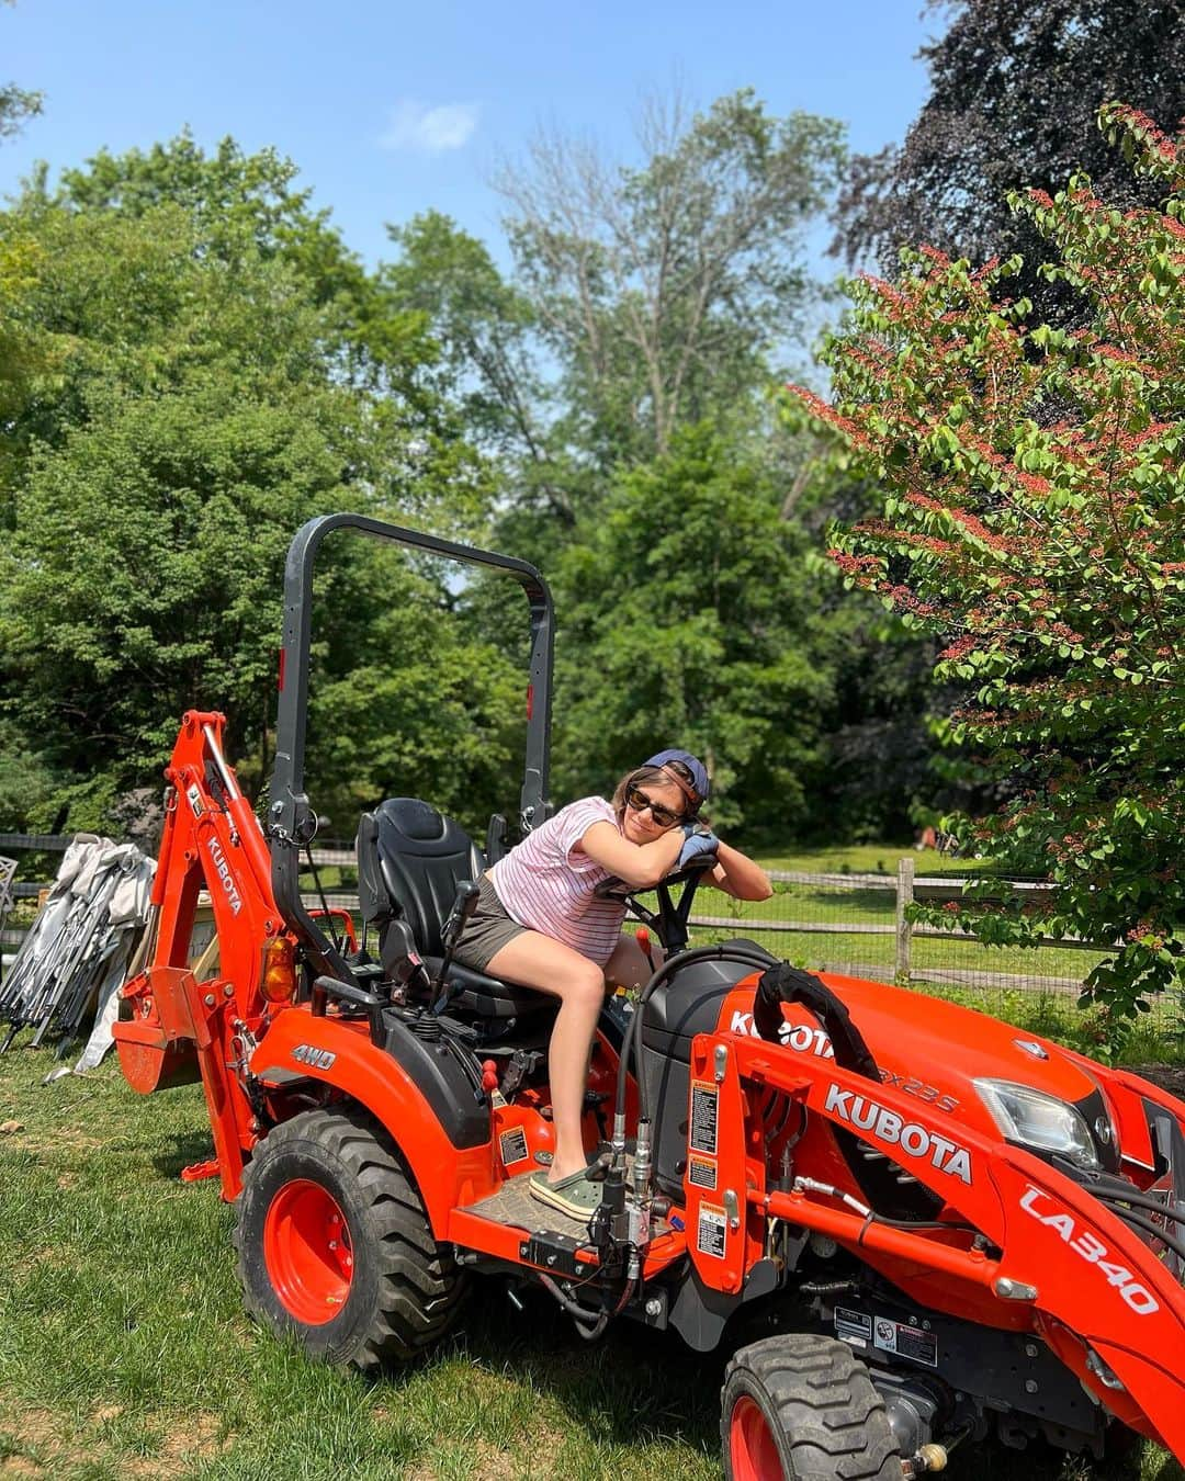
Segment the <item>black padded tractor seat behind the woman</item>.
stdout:
<path fill-rule="evenodd" d="M 379 958 L 387 967 L 385 937 L 400 917 L 412 929 L 416 951 L 435 976 L 444 948 L 440 929 L 464 880 L 480 880 L 486 869 L 481 850 L 461 823 L 418 797 L 388 797 L 363 813 L 357 837 L 358 903 L 363 920 L 378 926 Z M 393 946 L 395 937 L 393 936 Z M 510 1019 L 548 1006 L 545 994 L 489 977 L 453 963 L 450 1009 L 470 1009 L 481 1017 Z"/>

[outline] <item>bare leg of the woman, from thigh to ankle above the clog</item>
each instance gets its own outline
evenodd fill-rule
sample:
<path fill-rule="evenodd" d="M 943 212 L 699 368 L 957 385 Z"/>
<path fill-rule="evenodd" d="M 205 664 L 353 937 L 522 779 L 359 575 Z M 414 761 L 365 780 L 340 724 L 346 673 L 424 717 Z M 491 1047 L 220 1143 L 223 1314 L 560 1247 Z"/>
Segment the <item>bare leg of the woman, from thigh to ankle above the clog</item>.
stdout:
<path fill-rule="evenodd" d="M 595 961 L 533 930 L 507 942 L 493 954 L 486 970 L 493 977 L 538 988 L 560 1000 L 547 1052 L 555 1129 L 555 1157 L 548 1182 L 554 1183 L 585 1166 L 581 1114 L 588 1053 L 604 1003 L 604 974 Z"/>

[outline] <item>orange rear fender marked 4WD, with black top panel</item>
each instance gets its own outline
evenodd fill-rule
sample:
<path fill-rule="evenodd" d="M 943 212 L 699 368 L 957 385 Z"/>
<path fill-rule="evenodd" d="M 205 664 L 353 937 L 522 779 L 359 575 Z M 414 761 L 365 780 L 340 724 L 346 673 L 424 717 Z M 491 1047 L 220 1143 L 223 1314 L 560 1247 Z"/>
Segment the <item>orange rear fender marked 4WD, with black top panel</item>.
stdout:
<path fill-rule="evenodd" d="M 363 1106 L 395 1143 L 415 1177 L 433 1232 L 449 1214 L 493 1192 L 490 1112 L 441 1046 L 425 1044 L 384 1014 L 387 1044 L 369 1023 L 313 1017 L 307 1006 L 278 1013 L 252 1056 L 262 1081 L 290 1083 L 293 1071 Z"/>

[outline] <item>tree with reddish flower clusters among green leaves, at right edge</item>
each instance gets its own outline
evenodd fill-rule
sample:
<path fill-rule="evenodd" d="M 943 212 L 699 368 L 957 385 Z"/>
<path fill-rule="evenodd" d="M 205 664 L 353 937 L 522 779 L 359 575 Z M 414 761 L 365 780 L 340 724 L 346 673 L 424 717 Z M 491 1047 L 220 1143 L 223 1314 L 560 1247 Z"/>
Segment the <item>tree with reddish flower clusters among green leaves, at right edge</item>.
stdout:
<path fill-rule="evenodd" d="M 964 923 L 1114 943 L 1081 1001 L 1115 1047 L 1148 992 L 1185 983 L 1185 135 L 1120 105 L 1099 121 L 1163 209 L 1111 209 L 1084 176 L 1012 197 L 1089 327 L 1031 324 L 1003 296 L 1016 259 L 923 249 L 898 283 L 850 286 L 831 404 L 794 394 L 883 492 L 835 561 L 941 635 L 936 677 L 967 696 L 948 733 L 1009 782 L 955 826 L 1058 886 L 970 899 Z"/>

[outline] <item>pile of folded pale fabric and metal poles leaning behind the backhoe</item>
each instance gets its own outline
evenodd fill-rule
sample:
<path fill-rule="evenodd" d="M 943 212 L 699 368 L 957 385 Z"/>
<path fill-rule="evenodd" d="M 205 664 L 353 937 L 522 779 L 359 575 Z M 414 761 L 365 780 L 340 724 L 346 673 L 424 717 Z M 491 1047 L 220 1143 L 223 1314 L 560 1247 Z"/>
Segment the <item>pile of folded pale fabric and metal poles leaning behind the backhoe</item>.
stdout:
<path fill-rule="evenodd" d="M 148 917 L 156 863 L 135 844 L 76 834 L 58 878 L 0 985 L 0 1019 L 34 1028 L 40 1044 L 53 1025 L 64 1041 L 95 1014 L 76 1069 L 93 1069 L 113 1044 L 118 988 Z"/>

